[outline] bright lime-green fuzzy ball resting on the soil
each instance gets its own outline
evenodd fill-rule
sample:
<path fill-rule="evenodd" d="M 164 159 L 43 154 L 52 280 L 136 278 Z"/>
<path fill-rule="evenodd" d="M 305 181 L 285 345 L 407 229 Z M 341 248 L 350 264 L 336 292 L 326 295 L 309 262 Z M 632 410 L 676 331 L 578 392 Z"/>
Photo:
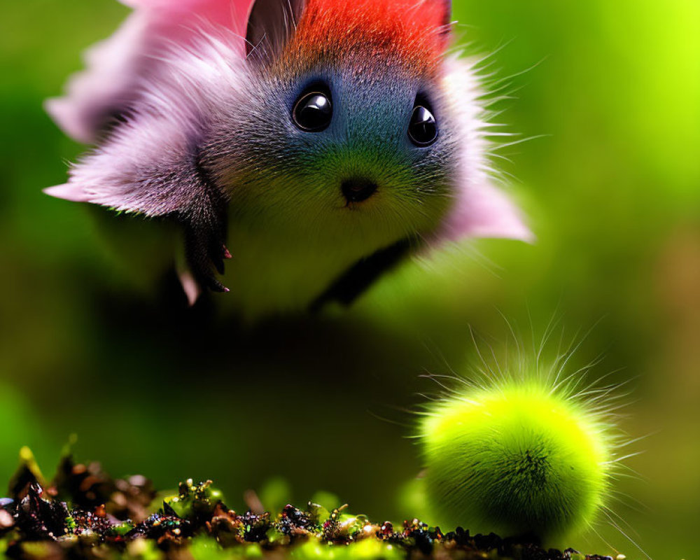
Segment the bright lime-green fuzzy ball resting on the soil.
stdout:
<path fill-rule="evenodd" d="M 589 526 L 608 489 L 608 424 L 541 380 L 453 395 L 423 416 L 420 437 L 442 526 L 561 542 Z"/>

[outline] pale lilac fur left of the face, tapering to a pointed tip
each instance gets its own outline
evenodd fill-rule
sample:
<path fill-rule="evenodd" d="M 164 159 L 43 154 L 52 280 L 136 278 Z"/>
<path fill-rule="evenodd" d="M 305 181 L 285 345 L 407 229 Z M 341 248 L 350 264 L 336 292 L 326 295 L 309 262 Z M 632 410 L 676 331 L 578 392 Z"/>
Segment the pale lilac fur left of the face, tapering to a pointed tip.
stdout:
<path fill-rule="evenodd" d="M 193 38 L 186 48 L 159 59 L 151 76 L 139 83 L 140 110 L 69 172 L 69 182 L 45 190 L 73 202 L 91 202 L 116 211 L 162 216 L 188 207 L 197 190 L 182 167 L 200 134 L 202 115 L 211 106 L 225 106 L 246 76 L 244 57 L 237 55 L 237 37 L 214 32 Z M 212 103 L 218 99 L 217 103 Z M 160 188 L 139 188 L 144 180 Z"/>

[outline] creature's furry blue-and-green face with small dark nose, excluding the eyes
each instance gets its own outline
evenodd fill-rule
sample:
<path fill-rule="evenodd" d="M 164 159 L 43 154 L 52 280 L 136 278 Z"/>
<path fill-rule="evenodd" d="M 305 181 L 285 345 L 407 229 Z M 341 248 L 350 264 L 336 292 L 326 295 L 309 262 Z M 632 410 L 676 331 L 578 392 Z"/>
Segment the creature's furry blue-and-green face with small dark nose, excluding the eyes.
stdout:
<path fill-rule="evenodd" d="M 318 130 L 295 117 L 312 93 L 328 102 Z M 423 146 L 409 134 L 416 104 L 437 126 Z M 202 162 L 232 201 L 245 201 L 233 211 L 245 207 L 256 223 L 330 236 L 352 228 L 379 246 L 430 232 L 449 207 L 456 155 L 447 104 L 435 83 L 391 66 L 286 76 L 252 68 L 209 134 Z"/>

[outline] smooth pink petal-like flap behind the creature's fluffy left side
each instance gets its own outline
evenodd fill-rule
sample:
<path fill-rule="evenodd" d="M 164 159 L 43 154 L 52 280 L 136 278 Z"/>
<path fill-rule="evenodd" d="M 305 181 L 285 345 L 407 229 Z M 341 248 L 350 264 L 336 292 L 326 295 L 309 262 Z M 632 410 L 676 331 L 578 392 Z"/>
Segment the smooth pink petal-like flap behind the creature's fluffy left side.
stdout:
<path fill-rule="evenodd" d="M 85 144 L 97 141 L 106 119 L 134 101 L 140 80 L 158 73 L 165 51 L 189 47 L 202 30 L 226 29 L 245 56 L 253 0 L 122 1 L 134 13 L 86 52 L 87 69 L 69 80 L 66 96 L 45 104 L 64 132 Z"/>

